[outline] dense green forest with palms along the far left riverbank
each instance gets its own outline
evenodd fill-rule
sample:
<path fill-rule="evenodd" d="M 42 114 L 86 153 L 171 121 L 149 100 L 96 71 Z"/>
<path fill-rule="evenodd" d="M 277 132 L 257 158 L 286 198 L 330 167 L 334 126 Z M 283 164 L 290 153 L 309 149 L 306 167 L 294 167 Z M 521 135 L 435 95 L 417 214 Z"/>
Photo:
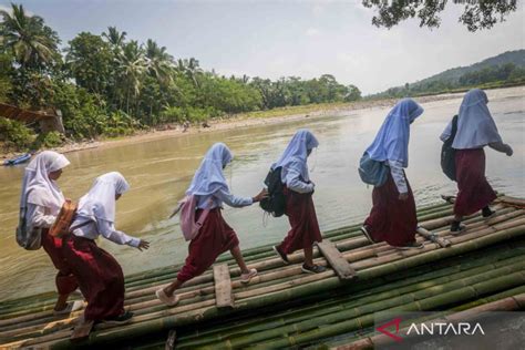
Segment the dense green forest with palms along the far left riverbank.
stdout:
<path fill-rule="evenodd" d="M 0 11 L 0 102 L 62 112 L 73 140 L 126 135 L 166 123 L 202 122 L 234 113 L 361 99 L 330 74 L 301 80 L 224 76 L 198 60 L 175 59 L 153 40 L 127 38 L 114 27 L 79 33 L 63 50 L 44 19 L 20 4 Z M 35 126 L 0 117 L 0 142 L 13 148 L 60 144 Z"/>

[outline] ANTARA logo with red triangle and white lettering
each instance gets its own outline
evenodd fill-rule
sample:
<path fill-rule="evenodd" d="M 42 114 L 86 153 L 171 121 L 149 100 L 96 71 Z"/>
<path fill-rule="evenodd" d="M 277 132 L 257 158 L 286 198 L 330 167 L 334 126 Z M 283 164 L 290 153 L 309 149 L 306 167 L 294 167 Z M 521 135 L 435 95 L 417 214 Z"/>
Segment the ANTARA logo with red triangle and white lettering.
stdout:
<path fill-rule="evenodd" d="M 401 323 L 401 318 L 394 318 L 393 320 L 379 326 L 375 328 L 381 333 L 392 338 L 397 342 L 403 341 L 403 338 L 400 334 L 399 325 Z M 388 330 L 389 327 L 395 327 L 395 331 L 391 332 Z M 406 330 L 406 336 L 475 336 L 475 334 L 483 334 L 485 336 L 485 331 L 483 330 L 480 323 L 475 323 L 474 326 L 469 322 L 457 322 L 457 323 L 449 323 L 449 322 L 428 322 L 428 323 L 411 323 L 409 329 Z"/>

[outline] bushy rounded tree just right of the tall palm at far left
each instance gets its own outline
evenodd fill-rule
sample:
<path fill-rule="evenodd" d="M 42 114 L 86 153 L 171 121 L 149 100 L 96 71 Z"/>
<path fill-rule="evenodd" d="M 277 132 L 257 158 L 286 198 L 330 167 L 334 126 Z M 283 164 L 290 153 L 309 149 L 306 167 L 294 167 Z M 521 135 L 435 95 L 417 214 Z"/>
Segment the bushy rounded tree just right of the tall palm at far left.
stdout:
<path fill-rule="evenodd" d="M 66 68 L 79 86 L 96 94 L 107 92 L 113 56 L 100 35 L 82 32 L 65 51 Z"/>

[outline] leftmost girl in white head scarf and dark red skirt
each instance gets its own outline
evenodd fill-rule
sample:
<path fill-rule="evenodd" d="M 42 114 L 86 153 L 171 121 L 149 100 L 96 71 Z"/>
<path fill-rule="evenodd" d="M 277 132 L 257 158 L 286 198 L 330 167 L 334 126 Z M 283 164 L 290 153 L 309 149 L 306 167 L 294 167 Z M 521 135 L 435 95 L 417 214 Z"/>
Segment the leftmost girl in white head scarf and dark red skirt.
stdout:
<path fill-rule="evenodd" d="M 59 292 L 59 299 L 53 308 L 55 315 L 70 313 L 83 307 L 82 301 L 68 303 L 68 297 L 79 284 L 62 255 L 62 239 L 49 235 L 49 228 L 55 222 L 65 200 L 56 179 L 69 164 L 70 162 L 56 152 L 44 151 L 37 155 L 25 168 L 20 198 L 20 208 L 27 206 L 24 219 L 28 229 L 40 228 L 42 247 L 59 270 L 55 278 Z"/>

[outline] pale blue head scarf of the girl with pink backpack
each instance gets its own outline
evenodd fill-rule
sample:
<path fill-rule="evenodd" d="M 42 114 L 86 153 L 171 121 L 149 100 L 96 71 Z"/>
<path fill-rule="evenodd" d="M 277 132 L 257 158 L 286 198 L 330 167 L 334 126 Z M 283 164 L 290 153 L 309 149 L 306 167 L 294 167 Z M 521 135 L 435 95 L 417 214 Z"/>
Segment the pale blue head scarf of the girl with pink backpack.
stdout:
<path fill-rule="evenodd" d="M 219 189 L 229 192 L 223 168 L 234 158 L 224 143 L 214 144 L 204 156 L 186 195 L 207 196 Z"/>

